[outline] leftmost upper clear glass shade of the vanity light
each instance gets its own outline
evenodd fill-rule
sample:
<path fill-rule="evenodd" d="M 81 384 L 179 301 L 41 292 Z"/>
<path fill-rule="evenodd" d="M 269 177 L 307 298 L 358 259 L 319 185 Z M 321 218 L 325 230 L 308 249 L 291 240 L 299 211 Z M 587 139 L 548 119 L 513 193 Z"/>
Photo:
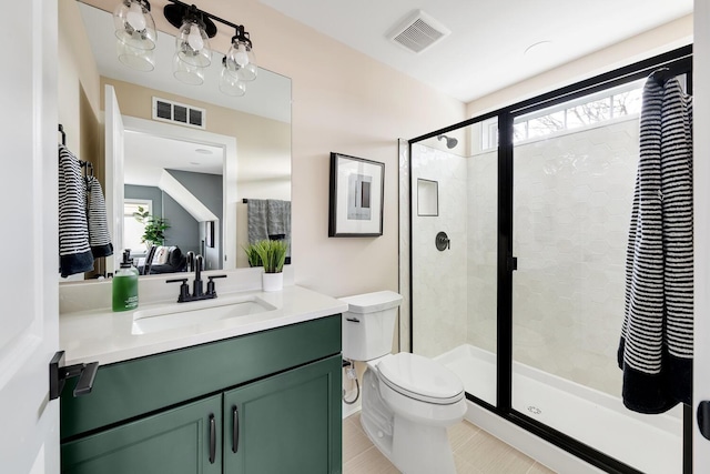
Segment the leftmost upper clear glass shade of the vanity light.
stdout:
<path fill-rule="evenodd" d="M 146 3 L 140 0 L 123 0 L 113 12 L 115 37 L 131 48 L 155 49 L 158 32 Z"/>

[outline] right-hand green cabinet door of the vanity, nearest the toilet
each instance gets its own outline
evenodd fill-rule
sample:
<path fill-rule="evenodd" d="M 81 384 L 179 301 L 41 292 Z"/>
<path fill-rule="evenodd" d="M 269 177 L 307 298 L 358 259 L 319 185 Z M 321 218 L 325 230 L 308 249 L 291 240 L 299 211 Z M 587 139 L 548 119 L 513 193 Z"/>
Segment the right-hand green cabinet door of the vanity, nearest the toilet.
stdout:
<path fill-rule="evenodd" d="M 339 356 L 224 393 L 224 473 L 339 473 Z"/>

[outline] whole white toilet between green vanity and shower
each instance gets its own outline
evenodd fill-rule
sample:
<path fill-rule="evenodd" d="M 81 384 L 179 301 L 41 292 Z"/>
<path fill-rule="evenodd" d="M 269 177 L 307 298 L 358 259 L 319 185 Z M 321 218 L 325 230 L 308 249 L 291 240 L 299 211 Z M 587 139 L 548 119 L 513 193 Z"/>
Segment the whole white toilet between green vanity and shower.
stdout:
<path fill-rule="evenodd" d="M 446 427 L 464 418 L 464 384 L 436 361 L 390 354 L 399 294 L 341 300 L 349 306 L 343 313 L 343 357 L 367 362 L 361 421 L 373 444 L 405 474 L 456 473 Z"/>

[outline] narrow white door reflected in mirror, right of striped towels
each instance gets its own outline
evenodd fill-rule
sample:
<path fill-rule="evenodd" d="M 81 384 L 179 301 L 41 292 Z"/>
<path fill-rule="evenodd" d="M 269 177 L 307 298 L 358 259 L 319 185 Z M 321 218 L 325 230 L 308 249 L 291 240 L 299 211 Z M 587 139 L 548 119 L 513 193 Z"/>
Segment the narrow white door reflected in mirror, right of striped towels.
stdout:
<path fill-rule="evenodd" d="M 105 181 L 106 215 L 113 242 L 113 256 L 106 259 L 106 272 L 113 273 L 123 253 L 123 148 L 124 128 L 113 85 L 105 85 Z"/>

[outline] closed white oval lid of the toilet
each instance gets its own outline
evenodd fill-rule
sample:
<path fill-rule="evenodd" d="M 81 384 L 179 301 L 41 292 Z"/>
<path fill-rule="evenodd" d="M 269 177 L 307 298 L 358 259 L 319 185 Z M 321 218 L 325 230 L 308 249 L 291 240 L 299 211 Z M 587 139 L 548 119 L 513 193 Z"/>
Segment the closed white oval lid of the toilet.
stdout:
<path fill-rule="evenodd" d="M 448 367 L 408 352 L 385 357 L 377 371 L 390 389 L 429 403 L 450 404 L 464 397 L 464 384 Z"/>

